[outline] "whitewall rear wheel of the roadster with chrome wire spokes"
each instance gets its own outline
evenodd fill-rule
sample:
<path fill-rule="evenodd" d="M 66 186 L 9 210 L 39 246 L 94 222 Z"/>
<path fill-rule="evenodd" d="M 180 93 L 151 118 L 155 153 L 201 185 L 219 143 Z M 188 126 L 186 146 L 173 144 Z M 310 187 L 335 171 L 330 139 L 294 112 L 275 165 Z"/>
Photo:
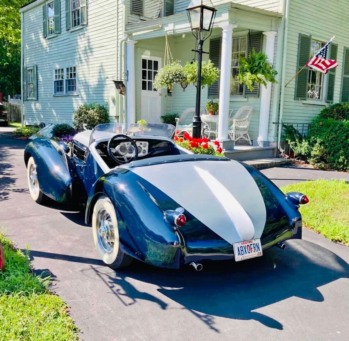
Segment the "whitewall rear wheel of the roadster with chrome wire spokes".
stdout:
<path fill-rule="evenodd" d="M 131 263 L 132 257 L 120 250 L 118 220 L 109 198 L 100 197 L 92 213 L 92 233 L 99 257 L 117 269 Z"/>

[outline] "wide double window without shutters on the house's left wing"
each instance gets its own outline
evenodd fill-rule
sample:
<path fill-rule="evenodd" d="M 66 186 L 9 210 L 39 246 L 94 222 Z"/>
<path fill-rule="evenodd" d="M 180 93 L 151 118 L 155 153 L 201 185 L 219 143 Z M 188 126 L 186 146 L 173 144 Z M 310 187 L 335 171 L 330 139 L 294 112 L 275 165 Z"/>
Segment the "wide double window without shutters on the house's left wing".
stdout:
<path fill-rule="evenodd" d="M 77 93 L 76 66 L 53 70 L 53 93 L 55 95 Z"/>

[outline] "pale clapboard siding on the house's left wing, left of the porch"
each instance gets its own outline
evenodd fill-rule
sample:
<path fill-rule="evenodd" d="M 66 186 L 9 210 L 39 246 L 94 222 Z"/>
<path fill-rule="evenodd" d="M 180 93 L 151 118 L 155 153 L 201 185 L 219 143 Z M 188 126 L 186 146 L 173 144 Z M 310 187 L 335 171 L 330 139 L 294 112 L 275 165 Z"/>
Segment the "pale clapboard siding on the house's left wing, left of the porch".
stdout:
<path fill-rule="evenodd" d="M 106 79 L 117 73 L 117 6 L 90 1 L 88 25 L 66 31 L 65 1 L 61 0 L 61 34 L 44 38 L 42 5 L 24 12 L 24 65 L 37 65 L 37 100 L 24 101 L 28 124 L 71 122 L 83 103 L 105 104 L 114 84 Z M 53 69 L 76 65 L 79 94 L 53 96 Z"/>

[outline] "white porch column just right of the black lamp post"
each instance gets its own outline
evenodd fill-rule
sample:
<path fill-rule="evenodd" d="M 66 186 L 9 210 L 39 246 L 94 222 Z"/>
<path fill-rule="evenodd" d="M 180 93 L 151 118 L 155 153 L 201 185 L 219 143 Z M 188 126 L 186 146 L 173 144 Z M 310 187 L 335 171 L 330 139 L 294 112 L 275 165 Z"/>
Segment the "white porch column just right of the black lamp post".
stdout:
<path fill-rule="evenodd" d="M 219 90 L 218 138 L 222 149 L 234 149 L 234 143 L 228 139 L 229 99 L 231 81 L 232 35 L 235 24 L 225 24 L 222 28 L 221 76 Z"/>

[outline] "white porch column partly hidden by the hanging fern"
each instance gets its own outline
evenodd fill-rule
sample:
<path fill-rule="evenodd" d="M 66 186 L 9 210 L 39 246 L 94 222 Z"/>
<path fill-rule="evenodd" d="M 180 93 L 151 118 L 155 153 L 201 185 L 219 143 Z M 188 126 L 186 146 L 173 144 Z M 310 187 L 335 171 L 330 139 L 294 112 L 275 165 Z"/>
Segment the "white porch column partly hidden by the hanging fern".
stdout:
<path fill-rule="evenodd" d="M 265 53 L 269 58 L 270 63 L 274 63 L 274 49 L 275 49 L 275 37 L 277 32 L 269 31 L 263 32 L 263 35 L 267 37 Z M 268 142 L 268 127 L 269 127 L 269 112 L 270 112 L 270 100 L 272 98 L 272 83 L 268 82 L 267 88 L 261 85 L 261 107 L 259 112 L 259 129 L 256 145 L 265 147 L 269 145 Z"/>

